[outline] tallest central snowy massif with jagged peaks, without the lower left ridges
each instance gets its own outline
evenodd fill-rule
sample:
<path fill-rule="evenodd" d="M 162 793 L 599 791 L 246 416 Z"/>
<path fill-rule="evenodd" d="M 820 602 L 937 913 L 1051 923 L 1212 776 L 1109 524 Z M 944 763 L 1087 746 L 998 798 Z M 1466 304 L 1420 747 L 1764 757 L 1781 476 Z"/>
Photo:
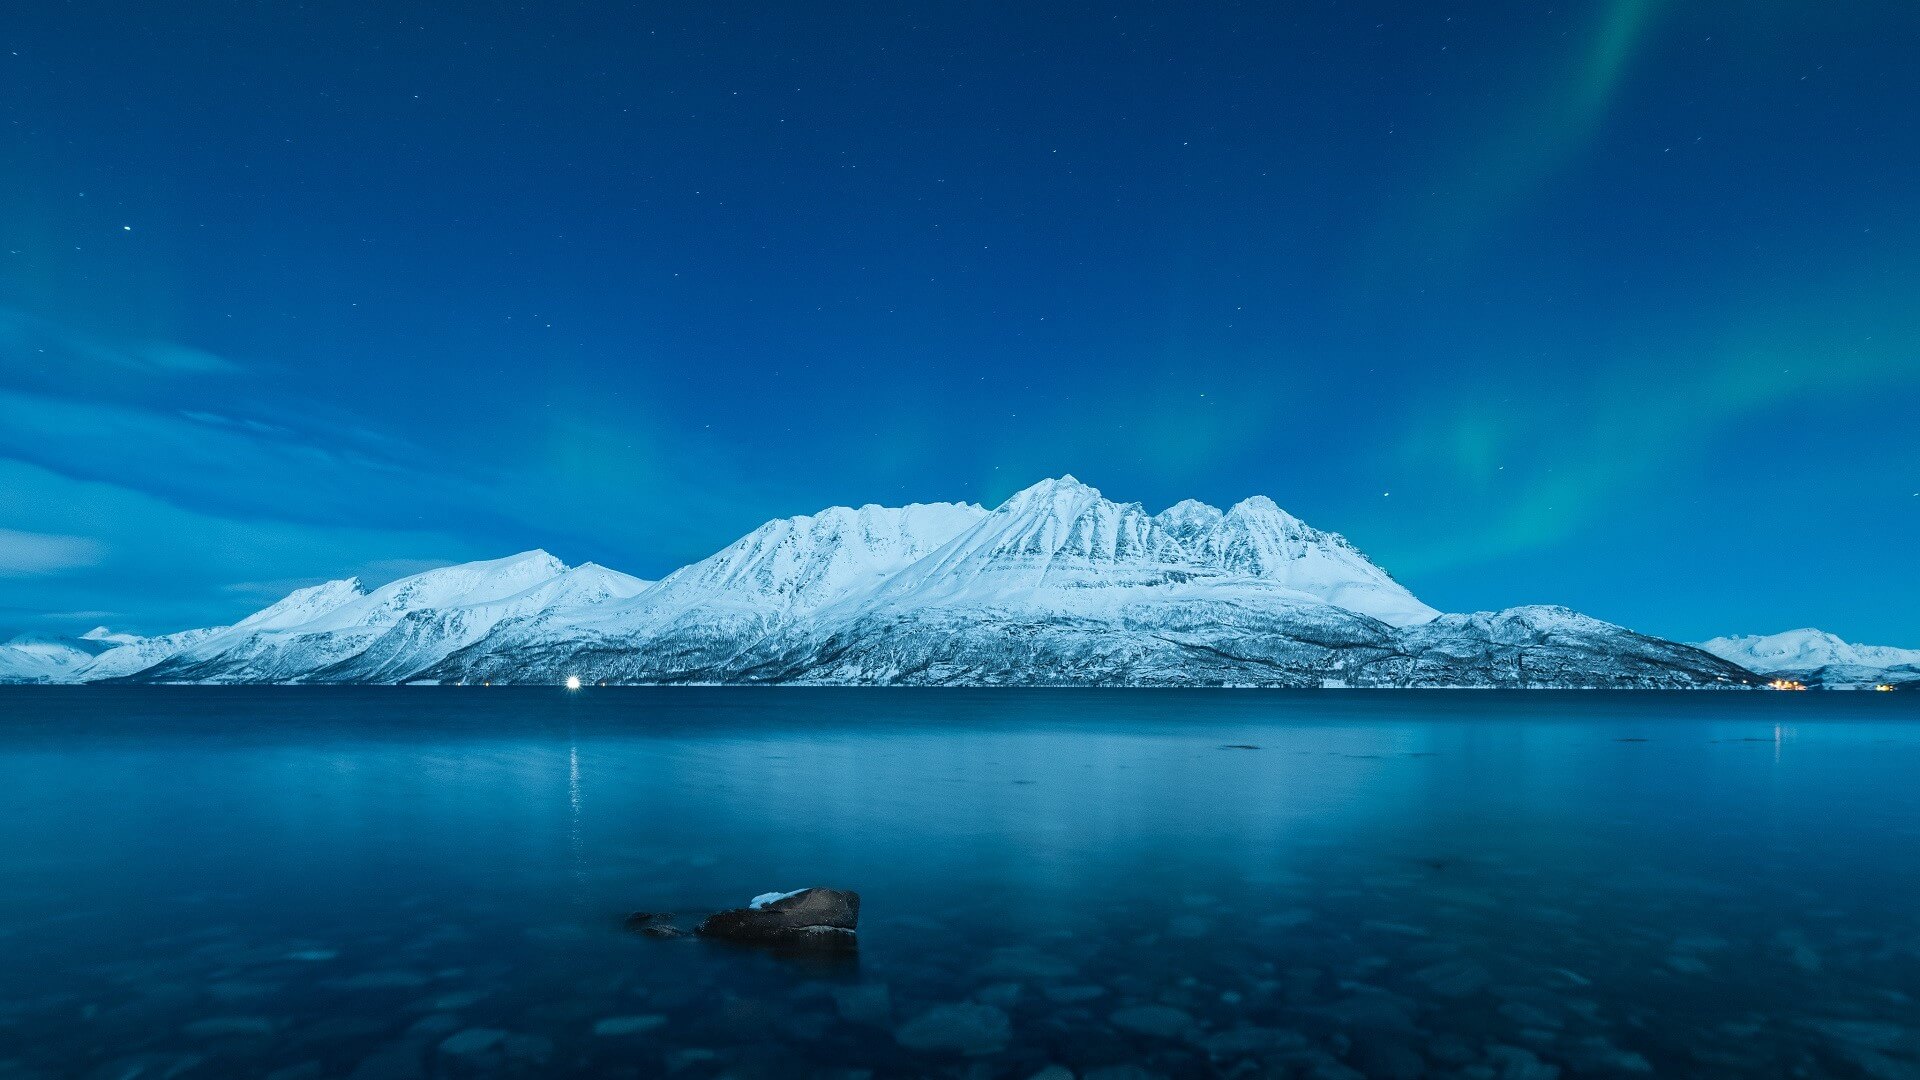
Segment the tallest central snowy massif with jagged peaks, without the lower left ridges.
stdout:
<path fill-rule="evenodd" d="M 578 625 L 503 626 L 432 675 L 966 686 L 1749 678 L 1697 650 L 1565 609 L 1434 619 L 1352 544 L 1271 500 L 1231 511 L 1185 502 L 1148 515 L 1064 477 L 991 513 L 948 507 L 943 521 L 956 534 L 937 546 L 925 534 L 918 548 L 931 550 L 904 565 L 874 565 L 870 530 L 847 527 L 852 513 L 770 523 L 626 605 Z M 912 548 L 887 546 L 897 555 Z M 849 563 L 872 573 L 810 571 Z"/>

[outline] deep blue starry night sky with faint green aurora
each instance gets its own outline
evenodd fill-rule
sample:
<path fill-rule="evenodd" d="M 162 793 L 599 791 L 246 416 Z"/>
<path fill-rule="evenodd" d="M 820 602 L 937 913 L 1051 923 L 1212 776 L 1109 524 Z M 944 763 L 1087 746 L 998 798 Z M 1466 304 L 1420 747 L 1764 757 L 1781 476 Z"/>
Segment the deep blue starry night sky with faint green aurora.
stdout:
<path fill-rule="evenodd" d="M 17 4 L 0 630 L 1269 494 L 1920 646 L 1920 6 Z"/>

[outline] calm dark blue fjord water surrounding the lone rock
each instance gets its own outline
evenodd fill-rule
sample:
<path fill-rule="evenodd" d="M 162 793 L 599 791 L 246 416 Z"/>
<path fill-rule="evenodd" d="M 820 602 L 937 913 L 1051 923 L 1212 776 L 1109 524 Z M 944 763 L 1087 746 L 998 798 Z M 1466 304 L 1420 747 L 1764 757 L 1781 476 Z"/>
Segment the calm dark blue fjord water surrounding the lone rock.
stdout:
<path fill-rule="evenodd" d="M 1920 1074 L 1910 694 L 6 688 L 0 865 L 0 1078 Z"/>

